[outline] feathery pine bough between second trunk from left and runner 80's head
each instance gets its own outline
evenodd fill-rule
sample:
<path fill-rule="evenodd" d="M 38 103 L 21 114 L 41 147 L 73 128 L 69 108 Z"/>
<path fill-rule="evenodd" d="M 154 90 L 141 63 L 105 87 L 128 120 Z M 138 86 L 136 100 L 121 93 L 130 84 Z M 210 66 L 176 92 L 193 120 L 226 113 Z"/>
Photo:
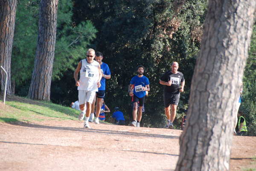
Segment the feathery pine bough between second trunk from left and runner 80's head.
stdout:
<path fill-rule="evenodd" d="M 68 69 L 75 70 L 79 60 L 84 59 L 87 47 L 94 38 L 97 30 L 87 20 L 76 27 L 64 26 L 57 34 L 55 45 L 55 59 L 53 63 L 52 79 L 60 79 Z M 71 33 L 71 34 L 70 34 Z"/>

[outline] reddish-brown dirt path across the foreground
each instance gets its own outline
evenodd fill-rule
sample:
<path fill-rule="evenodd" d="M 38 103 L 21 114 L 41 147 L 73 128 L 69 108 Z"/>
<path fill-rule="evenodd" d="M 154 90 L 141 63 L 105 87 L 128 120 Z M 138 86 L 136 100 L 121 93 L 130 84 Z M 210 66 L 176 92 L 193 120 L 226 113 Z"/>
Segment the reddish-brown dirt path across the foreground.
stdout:
<path fill-rule="evenodd" d="M 180 130 L 82 121 L 0 123 L 0 170 L 167 171 L 179 155 Z M 241 148 L 244 147 L 244 148 Z M 234 137 L 231 171 L 256 168 L 256 137 Z"/>

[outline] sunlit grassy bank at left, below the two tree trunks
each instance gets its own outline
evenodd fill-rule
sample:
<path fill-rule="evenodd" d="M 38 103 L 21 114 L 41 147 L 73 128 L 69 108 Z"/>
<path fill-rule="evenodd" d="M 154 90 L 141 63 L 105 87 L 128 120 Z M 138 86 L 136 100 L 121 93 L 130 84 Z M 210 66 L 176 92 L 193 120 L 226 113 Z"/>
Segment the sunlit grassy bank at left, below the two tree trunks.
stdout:
<path fill-rule="evenodd" d="M 77 120 L 80 111 L 45 101 L 8 101 L 0 110 L 0 122 Z"/>

